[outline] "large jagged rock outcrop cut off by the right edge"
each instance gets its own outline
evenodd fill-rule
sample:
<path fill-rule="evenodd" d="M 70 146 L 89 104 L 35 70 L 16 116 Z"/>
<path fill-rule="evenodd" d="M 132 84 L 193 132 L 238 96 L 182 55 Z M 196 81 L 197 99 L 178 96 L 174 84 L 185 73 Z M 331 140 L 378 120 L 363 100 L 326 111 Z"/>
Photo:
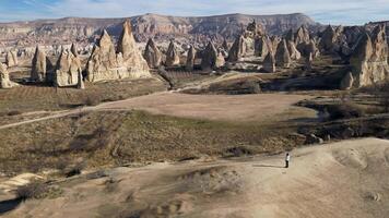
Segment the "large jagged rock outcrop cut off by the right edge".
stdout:
<path fill-rule="evenodd" d="M 372 37 L 365 33 L 350 59 L 354 87 L 363 87 L 389 78 L 388 43 L 385 26 L 377 26 Z"/>

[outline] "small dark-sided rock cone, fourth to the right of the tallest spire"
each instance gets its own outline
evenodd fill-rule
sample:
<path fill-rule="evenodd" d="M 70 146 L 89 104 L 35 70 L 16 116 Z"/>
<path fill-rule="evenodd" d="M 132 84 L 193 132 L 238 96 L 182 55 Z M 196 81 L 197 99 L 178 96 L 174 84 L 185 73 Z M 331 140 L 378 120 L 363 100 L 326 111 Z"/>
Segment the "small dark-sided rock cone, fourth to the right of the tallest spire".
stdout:
<path fill-rule="evenodd" d="M 216 68 L 220 68 L 222 64 L 224 64 L 224 57 L 222 56 L 222 60 L 219 55 L 220 53 L 217 52 L 217 49 L 212 44 L 212 41 L 210 41 L 202 52 L 201 69 L 215 70 Z"/>

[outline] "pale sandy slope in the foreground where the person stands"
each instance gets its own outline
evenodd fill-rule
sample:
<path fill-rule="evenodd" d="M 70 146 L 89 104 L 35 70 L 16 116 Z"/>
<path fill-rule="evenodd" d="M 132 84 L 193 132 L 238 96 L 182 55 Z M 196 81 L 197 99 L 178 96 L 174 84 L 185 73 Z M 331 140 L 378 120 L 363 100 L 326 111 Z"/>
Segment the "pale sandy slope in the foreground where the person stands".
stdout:
<path fill-rule="evenodd" d="M 4 217 L 385 218 L 389 141 L 365 138 L 284 154 L 108 170 L 60 184 Z M 89 178 L 89 179 L 87 179 Z"/>

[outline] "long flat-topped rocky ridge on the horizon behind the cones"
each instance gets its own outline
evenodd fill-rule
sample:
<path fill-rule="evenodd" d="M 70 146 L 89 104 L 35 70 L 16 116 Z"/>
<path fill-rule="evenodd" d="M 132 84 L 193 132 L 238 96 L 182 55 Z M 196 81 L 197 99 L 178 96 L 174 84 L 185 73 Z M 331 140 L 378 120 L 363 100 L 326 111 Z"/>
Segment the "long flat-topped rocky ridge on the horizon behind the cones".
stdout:
<path fill-rule="evenodd" d="M 33 44 L 85 41 L 98 35 L 103 28 L 117 36 L 126 19 L 82 19 L 66 17 L 59 20 L 37 20 L 32 22 L 0 23 L 0 44 L 26 46 Z M 302 25 L 317 26 L 304 14 L 284 15 L 245 15 L 227 14 L 202 17 L 179 17 L 157 14 L 144 14 L 130 17 L 134 34 L 139 40 L 150 36 L 179 37 L 234 37 L 252 20 L 264 25 L 270 34 L 281 34 Z"/>

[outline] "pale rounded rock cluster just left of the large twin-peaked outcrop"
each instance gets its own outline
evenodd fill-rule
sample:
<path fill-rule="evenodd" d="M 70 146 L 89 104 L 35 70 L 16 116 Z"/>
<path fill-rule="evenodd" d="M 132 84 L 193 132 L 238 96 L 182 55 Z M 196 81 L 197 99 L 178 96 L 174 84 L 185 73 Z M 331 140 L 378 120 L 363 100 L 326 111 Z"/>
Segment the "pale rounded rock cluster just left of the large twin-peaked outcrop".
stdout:
<path fill-rule="evenodd" d="M 63 50 L 58 59 L 54 85 L 56 87 L 75 86 L 82 73 L 81 61 L 73 52 Z"/>

